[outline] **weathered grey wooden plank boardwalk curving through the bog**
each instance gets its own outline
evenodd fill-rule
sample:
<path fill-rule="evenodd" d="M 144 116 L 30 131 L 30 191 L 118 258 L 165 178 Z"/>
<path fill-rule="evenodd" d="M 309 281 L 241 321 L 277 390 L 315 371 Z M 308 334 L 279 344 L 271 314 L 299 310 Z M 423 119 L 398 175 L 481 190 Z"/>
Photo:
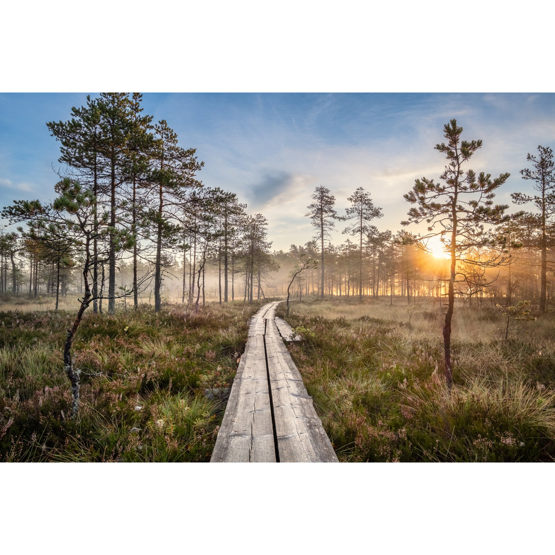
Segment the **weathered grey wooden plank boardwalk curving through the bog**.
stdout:
<path fill-rule="evenodd" d="M 210 462 L 337 462 L 276 325 L 278 302 L 250 321 Z M 291 334 L 284 320 L 279 325 Z"/>

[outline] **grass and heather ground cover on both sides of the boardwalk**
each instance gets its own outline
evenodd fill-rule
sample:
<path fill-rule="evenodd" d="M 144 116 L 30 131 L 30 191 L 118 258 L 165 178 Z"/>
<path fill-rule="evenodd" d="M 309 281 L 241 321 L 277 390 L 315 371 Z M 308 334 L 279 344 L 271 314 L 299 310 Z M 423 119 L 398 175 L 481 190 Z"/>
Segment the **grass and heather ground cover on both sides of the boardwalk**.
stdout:
<path fill-rule="evenodd" d="M 74 312 L 0 312 L 0 461 L 208 461 L 225 401 L 205 393 L 230 387 L 261 304 L 88 311 L 78 421 L 62 365 Z M 436 302 L 309 298 L 287 320 L 306 330 L 289 348 L 341 461 L 555 458 L 553 315 L 505 341 L 499 310 L 457 306 L 451 391 Z"/>

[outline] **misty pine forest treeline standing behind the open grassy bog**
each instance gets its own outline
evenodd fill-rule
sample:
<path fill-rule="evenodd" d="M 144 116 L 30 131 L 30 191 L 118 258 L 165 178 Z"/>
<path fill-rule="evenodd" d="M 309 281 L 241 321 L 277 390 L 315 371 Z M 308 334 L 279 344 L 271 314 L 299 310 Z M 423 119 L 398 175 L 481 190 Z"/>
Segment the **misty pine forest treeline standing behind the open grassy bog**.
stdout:
<path fill-rule="evenodd" d="M 81 294 L 88 237 L 94 312 L 113 313 L 119 299 L 127 304 L 126 297 L 135 307 L 148 297 L 158 311 L 164 297 L 198 309 L 207 297 L 227 302 L 286 294 L 288 274 L 302 258 L 317 260 L 319 267 L 297 275 L 292 292 L 300 297 L 402 296 L 410 302 L 433 296 L 441 304 L 447 295 L 448 261 L 431 256 L 427 240 L 439 238 L 435 250 L 443 245 L 448 258 L 450 230 L 380 230 L 372 222 L 382 211 L 363 188 L 340 215 L 330 189 L 316 187 L 306 214 L 314 238 L 288 252 L 271 252 L 265 216 L 249 215 L 236 194 L 203 185 L 198 174 L 204 164 L 195 149 L 180 147 L 165 120 L 153 124 L 141 101 L 138 93 L 102 93 L 73 108 L 68 121 L 47 123 L 60 143 L 58 198 L 4 207 L 3 218 L 17 223 L 19 232 L 0 233 L 0 292 L 51 295 L 56 307 L 60 295 Z M 466 240 L 466 252 L 458 256 L 455 295 L 471 305 L 485 297 L 507 304 L 521 298 L 543 312 L 551 300 L 553 154 L 538 147 L 538 155 L 527 160 L 533 169 L 523 169 L 522 178 L 533 180 L 538 194 L 512 196 L 515 204 L 531 203 L 537 211 L 499 220 L 491 235 L 496 240 Z M 88 214 L 80 216 L 74 206 L 79 194 L 89 199 Z M 76 218 L 88 219 L 83 229 Z M 348 237 L 333 244 L 330 233 L 340 222 Z M 455 243 L 458 248 L 465 241 Z"/>

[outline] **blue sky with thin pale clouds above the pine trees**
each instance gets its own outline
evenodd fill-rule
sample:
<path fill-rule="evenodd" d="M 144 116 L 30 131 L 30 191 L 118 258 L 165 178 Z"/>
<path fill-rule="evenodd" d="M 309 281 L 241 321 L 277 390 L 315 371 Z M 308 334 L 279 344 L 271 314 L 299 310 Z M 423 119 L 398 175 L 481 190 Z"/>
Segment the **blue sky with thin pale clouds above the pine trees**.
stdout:
<path fill-rule="evenodd" d="M 93 97 L 97 93 L 89 93 Z M 53 198 L 59 143 L 46 122 L 67 120 L 87 93 L 0 94 L 0 205 L 19 198 Z M 455 117 L 463 138 L 482 139 L 475 171 L 509 171 L 497 201 L 529 190 L 519 170 L 526 154 L 555 142 L 555 95 L 491 94 L 255 94 L 144 93 L 144 113 L 166 119 L 183 147 L 196 148 L 205 166 L 199 178 L 238 194 L 250 213 L 269 220 L 273 248 L 310 240 L 304 218 L 310 194 L 327 186 L 344 212 L 358 186 L 370 191 L 396 231 L 415 178 L 436 178 L 445 165 L 433 145 Z M 516 211 L 512 205 L 509 210 Z M 343 241 L 336 224 L 334 241 Z"/>

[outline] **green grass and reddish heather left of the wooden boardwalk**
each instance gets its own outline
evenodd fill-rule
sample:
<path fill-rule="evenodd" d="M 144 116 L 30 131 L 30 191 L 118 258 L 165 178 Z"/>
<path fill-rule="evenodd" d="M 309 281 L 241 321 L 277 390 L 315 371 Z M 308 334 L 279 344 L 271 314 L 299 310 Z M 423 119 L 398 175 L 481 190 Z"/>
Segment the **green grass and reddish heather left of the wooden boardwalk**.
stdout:
<path fill-rule="evenodd" d="M 86 312 L 77 421 L 62 363 L 75 312 L 0 312 L 0 461 L 208 461 L 225 403 L 205 390 L 230 386 L 260 304 Z"/>

